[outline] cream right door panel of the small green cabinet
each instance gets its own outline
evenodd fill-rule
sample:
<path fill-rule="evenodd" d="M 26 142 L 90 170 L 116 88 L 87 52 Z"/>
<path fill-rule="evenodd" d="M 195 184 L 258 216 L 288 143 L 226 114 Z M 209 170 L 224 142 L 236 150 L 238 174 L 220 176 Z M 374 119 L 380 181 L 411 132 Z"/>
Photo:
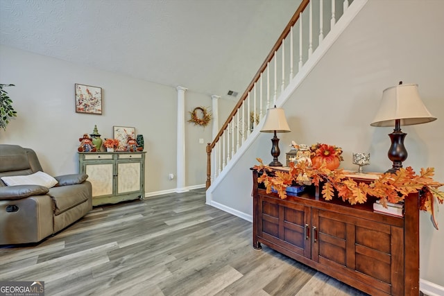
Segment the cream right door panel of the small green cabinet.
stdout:
<path fill-rule="evenodd" d="M 140 190 L 140 163 L 117 164 L 117 194 Z"/>

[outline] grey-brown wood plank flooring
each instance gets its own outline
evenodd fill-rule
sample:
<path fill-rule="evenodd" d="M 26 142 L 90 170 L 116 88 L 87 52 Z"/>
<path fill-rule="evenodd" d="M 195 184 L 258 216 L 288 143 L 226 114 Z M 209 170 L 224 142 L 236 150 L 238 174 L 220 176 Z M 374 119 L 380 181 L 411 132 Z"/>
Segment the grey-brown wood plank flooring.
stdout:
<path fill-rule="evenodd" d="M 0 281 L 45 295 L 366 295 L 263 245 L 205 190 L 101 207 L 37 245 L 0 246 Z"/>

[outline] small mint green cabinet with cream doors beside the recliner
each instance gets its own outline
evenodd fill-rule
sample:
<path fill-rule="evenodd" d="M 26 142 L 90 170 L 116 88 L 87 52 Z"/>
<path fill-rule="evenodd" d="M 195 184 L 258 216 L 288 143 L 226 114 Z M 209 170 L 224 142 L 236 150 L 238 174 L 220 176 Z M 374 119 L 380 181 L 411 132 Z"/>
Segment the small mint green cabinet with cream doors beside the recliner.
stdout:
<path fill-rule="evenodd" d="M 78 153 L 79 171 L 92 184 L 92 205 L 145 196 L 145 152 Z"/>

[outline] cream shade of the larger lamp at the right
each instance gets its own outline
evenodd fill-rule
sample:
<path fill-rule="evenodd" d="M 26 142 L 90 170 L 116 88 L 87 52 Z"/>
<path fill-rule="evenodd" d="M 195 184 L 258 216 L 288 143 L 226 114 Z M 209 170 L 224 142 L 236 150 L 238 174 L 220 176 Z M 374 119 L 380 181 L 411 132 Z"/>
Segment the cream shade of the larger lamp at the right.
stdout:
<path fill-rule="evenodd" d="M 396 85 L 382 92 L 379 110 L 373 119 L 372 126 L 395 126 L 395 120 L 400 119 L 401 125 L 413 125 L 435 121 L 422 103 L 418 85 Z"/>

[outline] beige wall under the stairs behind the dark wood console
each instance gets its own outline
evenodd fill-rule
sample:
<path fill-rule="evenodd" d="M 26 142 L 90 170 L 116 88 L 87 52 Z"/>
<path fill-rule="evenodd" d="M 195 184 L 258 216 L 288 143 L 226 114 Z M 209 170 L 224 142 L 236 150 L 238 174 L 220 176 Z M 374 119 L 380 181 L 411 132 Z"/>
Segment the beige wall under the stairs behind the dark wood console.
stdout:
<path fill-rule="evenodd" d="M 279 134 L 280 160 L 291 140 L 341 146 L 341 167 L 356 169 L 353 152 L 369 152 L 367 171 L 386 171 L 389 134 L 393 128 L 370 123 L 386 87 L 418 83 L 425 105 L 437 121 L 402 127 L 409 152 L 404 166 L 434 167 L 435 179 L 444 182 L 444 1 L 368 1 L 359 15 L 327 51 L 302 85 L 283 105 L 291 128 Z M 250 166 L 255 157 L 271 160 L 271 134 L 259 134 L 242 159 L 212 193 L 213 200 L 252 214 Z M 444 188 L 441 187 L 441 191 Z M 429 215 L 420 215 L 420 277 L 444 286 L 443 204 L 437 214 L 439 231 Z"/>

